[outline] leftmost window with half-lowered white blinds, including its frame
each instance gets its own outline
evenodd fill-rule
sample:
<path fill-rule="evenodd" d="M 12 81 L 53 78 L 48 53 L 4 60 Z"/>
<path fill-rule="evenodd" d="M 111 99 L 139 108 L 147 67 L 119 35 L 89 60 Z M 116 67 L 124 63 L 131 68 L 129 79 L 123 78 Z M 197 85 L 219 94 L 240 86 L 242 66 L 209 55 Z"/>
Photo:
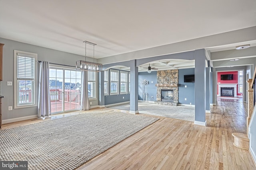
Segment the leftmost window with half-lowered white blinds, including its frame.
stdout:
<path fill-rule="evenodd" d="M 14 50 L 15 109 L 37 106 L 36 63 L 37 54 Z"/>

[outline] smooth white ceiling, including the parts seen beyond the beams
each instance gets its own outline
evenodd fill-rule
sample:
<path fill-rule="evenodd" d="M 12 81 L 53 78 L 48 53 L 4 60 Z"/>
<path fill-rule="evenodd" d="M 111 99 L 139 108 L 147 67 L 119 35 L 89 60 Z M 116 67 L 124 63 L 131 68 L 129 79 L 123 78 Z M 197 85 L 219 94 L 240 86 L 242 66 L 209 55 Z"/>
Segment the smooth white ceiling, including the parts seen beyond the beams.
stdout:
<path fill-rule="evenodd" d="M 0 0 L 0 37 L 82 56 L 90 41 L 97 59 L 255 25 L 255 0 Z"/>

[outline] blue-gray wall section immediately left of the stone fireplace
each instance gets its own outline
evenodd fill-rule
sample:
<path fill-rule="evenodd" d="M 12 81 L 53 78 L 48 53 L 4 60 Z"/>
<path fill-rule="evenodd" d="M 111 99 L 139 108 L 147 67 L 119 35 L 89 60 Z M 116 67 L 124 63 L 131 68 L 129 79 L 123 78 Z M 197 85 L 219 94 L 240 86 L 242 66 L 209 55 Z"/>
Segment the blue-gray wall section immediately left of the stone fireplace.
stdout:
<path fill-rule="evenodd" d="M 138 100 L 143 100 L 143 92 L 144 92 L 144 85 L 142 85 L 143 80 L 147 80 L 149 82 L 148 85 L 145 85 L 145 93 L 148 93 L 148 101 L 155 101 L 156 100 L 156 91 L 157 91 L 156 71 L 152 71 L 151 73 L 139 72 L 139 74 L 138 74 L 138 93 L 139 93 Z M 153 96 L 153 98 L 152 98 L 152 96 Z"/>

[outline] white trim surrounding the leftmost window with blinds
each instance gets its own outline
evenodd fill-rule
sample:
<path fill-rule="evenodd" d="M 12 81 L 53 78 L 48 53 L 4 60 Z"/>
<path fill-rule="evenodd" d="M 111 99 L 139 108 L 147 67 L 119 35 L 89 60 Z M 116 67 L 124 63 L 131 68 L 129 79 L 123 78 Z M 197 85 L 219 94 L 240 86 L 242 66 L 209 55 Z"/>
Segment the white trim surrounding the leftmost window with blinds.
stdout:
<path fill-rule="evenodd" d="M 34 103 L 33 104 L 24 104 L 18 106 L 17 98 L 18 98 L 18 84 L 17 84 L 17 58 L 18 53 L 24 55 L 34 56 L 35 59 L 35 71 L 34 71 Z M 36 107 L 38 105 L 38 82 L 37 82 L 37 54 L 29 53 L 25 51 L 14 50 L 14 109 L 26 108 L 26 107 Z"/>

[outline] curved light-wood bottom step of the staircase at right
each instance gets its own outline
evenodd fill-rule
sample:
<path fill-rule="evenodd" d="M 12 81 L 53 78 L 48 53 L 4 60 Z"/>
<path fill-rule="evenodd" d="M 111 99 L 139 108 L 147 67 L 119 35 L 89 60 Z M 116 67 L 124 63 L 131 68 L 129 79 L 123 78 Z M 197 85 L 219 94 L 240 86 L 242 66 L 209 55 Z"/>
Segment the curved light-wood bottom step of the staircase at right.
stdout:
<path fill-rule="evenodd" d="M 249 149 L 249 138 L 245 133 L 232 133 L 234 145 L 241 149 Z"/>

